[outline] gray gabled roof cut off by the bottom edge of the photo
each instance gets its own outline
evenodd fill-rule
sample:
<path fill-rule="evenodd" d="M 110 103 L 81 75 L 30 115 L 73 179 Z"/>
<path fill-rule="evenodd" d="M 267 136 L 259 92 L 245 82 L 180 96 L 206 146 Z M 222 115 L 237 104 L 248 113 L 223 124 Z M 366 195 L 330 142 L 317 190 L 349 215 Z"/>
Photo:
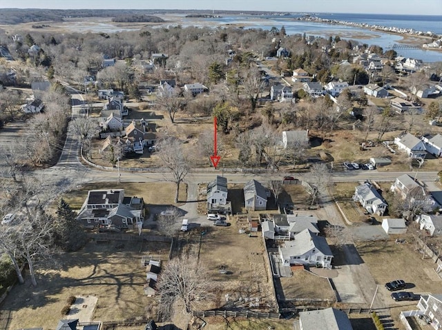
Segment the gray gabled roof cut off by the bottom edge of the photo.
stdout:
<path fill-rule="evenodd" d="M 334 308 L 301 311 L 299 321 L 303 330 L 353 330 L 347 314 Z"/>

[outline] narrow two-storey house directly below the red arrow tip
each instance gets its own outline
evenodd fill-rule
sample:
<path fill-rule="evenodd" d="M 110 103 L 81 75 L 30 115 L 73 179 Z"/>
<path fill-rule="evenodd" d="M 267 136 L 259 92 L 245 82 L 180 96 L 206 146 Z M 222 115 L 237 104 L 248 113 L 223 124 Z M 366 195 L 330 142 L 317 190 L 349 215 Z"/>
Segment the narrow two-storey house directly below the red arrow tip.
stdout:
<path fill-rule="evenodd" d="M 227 200 L 227 178 L 216 176 L 207 185 L 207 210 L 209 213 L 231 213 L 231 202 Z"/>

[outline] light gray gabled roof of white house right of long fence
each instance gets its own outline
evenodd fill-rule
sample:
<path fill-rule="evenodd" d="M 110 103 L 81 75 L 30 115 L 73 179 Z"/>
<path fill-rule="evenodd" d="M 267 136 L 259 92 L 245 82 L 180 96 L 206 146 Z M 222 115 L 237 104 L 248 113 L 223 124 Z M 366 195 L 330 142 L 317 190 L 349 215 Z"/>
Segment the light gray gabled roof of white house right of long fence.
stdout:
<path fill-rule="evenodd" d="M 327 240 L 323 236 L 313 234 L 309 229 L 304 229 L 296 234 L 294 240 L 287 241 L 285 247 L 281 247 L 281 250 L 285 250 L 284 254 L 290 256 L 302 256 L 311 249 L 317 249 L 325 256 L 333 256 Z"/>

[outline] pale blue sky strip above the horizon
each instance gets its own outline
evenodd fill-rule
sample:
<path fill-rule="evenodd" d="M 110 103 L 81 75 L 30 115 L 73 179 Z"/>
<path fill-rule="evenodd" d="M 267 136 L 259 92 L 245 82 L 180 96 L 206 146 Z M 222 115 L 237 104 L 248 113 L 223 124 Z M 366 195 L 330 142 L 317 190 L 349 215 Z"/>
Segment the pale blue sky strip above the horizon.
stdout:
<path fill-rule="evenodd" d="M 442 0 L 0 0 L 0 8 L 206 9 L 442 15 Z"/>

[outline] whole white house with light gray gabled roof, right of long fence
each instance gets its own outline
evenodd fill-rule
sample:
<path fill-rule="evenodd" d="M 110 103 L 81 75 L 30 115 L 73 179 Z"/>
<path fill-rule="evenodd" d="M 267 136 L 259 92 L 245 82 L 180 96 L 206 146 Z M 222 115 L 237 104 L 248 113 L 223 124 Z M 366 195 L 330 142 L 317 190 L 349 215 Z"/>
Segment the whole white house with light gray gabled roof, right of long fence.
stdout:
<path fill-rule="evenodd" d="M 332 267 L 332 250 L 323 236 L 313 234 L 309 229 L 294 236 L 294 240 L 285 241 L 278 247 L 280 258 L 285 266 L 309 265 Z"/>

